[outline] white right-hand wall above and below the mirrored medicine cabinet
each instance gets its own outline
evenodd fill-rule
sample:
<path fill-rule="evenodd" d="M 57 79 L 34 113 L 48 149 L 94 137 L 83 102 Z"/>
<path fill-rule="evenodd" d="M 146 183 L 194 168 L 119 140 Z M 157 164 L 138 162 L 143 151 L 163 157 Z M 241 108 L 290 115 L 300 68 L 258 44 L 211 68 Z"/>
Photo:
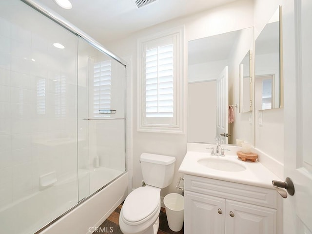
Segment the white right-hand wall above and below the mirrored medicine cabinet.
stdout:
<path fill-rule="evenodd" d="M 266 23 L 271 19 L 282 0 L 255 0 L 254 36 L 256 39 Z M 284 162 L 284 110 L 283 108 L 263 111 L 263 125 L 258 124 L 255 111 L 255 146 L 273 160 Z M 283 175 L 278 175 L 283 178 Z"/>

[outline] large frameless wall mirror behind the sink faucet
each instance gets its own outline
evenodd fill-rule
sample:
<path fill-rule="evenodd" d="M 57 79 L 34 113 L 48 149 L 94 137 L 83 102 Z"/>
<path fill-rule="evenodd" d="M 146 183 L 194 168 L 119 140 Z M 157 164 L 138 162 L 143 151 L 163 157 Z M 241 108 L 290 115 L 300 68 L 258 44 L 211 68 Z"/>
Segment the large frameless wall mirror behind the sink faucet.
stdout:
<path fill-rule="evenodd" d="M 249 103 L 249 113 L 239 111 L 241 97 L 253 99 L 253 86 L 243 91 L 240 83 L 240 64 L 253 48 L 252 27 L 188 42 L 188 142 L 214 143 L 218 137 L 222 144 L 236 144 L 237 138 L 254 144 Z"/>

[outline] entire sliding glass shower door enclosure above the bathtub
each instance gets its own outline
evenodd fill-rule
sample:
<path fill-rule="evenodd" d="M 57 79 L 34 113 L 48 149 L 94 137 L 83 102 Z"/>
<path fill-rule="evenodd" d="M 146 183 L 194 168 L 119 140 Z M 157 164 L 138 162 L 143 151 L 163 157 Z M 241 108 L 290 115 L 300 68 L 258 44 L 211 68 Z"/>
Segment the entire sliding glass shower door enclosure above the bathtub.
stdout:
<path fill-rule="evenodd" d="M 0 0 L 0 233 L 33 234 L 125 171 L 125 67 Z"/>

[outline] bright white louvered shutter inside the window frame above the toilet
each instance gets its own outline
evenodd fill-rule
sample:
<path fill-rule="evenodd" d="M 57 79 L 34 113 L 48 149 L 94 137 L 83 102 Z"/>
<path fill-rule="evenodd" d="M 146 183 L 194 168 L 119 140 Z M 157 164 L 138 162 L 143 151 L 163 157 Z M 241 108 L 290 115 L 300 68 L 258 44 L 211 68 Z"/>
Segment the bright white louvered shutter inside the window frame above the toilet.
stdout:
<path fill-rule="evenodd" d="M 176 45 L 173 38 L 145 45 L 145 124 L 176 124 Z"/>

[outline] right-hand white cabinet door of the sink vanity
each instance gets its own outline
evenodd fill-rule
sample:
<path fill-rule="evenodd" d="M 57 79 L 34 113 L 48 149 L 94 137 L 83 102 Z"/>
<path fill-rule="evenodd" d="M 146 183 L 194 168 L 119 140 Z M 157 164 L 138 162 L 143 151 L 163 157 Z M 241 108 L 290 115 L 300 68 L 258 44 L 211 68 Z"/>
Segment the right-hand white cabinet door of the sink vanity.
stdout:
<path fill-rule="evenodd" d="M 276 234 L 276 210 L 238 201 L 225 202 L 226 234 Z"/>

